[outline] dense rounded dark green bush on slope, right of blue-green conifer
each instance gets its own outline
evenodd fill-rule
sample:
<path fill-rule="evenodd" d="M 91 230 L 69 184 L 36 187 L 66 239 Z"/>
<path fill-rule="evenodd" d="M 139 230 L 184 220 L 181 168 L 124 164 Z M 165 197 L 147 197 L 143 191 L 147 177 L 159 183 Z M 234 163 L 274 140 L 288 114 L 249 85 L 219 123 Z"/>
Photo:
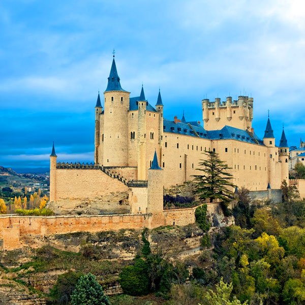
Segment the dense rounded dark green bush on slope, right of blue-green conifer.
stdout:
<path fill-rule="evenodd" d="M 146 295 L 149 292 L 148 265 L 138 258 L 134 265 L 125 267 L 119 275 L 119 283 L 124 293 Z"/>

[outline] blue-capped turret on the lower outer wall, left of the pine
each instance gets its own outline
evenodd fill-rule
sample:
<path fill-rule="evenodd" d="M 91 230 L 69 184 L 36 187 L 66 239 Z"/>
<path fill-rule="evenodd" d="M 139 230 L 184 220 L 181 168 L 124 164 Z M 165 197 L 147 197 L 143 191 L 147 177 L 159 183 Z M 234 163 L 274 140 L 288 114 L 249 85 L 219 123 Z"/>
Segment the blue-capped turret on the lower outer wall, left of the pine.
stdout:
<path fill-rule="evenodd" d="M 147 212 L 154 216 L 163 212 L 163 170 L 159 166 L 156 151 L 148 169 Z"/>

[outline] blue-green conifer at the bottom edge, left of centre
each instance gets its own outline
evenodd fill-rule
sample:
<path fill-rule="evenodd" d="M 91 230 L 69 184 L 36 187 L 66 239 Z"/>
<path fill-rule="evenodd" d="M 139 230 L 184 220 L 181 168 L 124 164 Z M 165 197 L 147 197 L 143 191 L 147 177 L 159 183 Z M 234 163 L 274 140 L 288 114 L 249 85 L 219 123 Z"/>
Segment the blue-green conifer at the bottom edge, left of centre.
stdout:
<path fill-rule="evenodd" d="M 110 305 L 102 286 L 92 273 L 82 276 L 71 295 L 72 305 Z"/>

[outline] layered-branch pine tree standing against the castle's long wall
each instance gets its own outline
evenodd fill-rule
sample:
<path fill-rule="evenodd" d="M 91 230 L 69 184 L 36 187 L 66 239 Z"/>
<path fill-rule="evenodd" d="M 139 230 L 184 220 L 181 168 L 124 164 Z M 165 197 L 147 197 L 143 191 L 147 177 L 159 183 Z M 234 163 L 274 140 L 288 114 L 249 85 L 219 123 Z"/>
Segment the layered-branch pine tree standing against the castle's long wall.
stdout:
<path fill-rule="evenodd" d="M 220 199 L 227 206 L 234 198 L 230 189 L 235 187 L 231 182 L 233 175 L 227 172 L 230 167 L 221 161 L 214 151 L 208 151 L 203 155 L 207 156 L 207 159 L 200 160 L 201 168 L 197 168 L 197 170 L 203 171 L 203 174 L 193 175 L 196 192 L 202 200 L 209 198 L 209 202 L 212 202 L 213 199 Z"/>

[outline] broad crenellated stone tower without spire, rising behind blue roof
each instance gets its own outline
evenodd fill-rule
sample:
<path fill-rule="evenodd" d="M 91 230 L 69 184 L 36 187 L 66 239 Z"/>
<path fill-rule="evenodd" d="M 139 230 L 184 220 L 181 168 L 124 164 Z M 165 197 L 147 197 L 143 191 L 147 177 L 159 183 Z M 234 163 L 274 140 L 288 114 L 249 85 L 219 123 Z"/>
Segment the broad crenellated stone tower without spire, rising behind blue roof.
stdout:
<path fill-rule="evenodd" d="M 252 131 L 253 98 L 239 96 L 233 102 L 231 97 L 227 97 L 224 102 L 220 98 L 216 98 L 214 102 L 204 99 L 202 118 L 205 130 L 220 130 L 228 125 Z"/>

